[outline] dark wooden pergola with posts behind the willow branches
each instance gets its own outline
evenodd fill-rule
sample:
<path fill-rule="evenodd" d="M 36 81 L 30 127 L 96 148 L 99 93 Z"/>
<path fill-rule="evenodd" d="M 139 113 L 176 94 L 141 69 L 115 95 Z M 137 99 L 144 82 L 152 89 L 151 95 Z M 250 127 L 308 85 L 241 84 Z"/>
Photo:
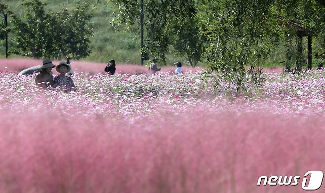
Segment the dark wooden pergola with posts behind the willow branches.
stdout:
<path fill-rule="evenodd" d="M 280 17 L 282 18 L 282 17 Z M 297 36 L 298 36 L 298 43 L 297 43 L 297 49 L 298 49 L 298 54 L 299 57 L 297 58 L 297 69 L 301 70 L 302 69 L 302 64 L 304 62 L 304 57 L 303 57 L 303 52 L 302 52 L 302 39 L 303 37 L 307 37 L 307 69 L 312 70 L 312 37 L 313 33 L 306 29 L 301 27 L 301 24 L 291 22 L 290 24 L 287 22 L 284 22 L 284 18 L 281 19 L 282 21 L 279 22 L 279 25 L 284 26 L 286 30 L 291 30 L 293 29 Z"/>

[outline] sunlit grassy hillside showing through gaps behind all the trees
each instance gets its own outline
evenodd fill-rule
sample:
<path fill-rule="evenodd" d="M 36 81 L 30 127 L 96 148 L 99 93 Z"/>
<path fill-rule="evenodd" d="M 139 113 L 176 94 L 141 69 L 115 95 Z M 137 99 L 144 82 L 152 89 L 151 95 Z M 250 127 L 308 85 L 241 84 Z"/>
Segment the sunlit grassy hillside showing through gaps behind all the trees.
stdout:
<path fill-rule="evenodd" d="M 8 4 L 9 10 L 14 13 L 20 13 L 22 9 L 21 3 L 24 0 L 5 0 L 3 2 Z M 60 11 L 62 8 L 67 8 L 72 10 L 77 3 L 82 0 L 41 0 L 46 2 L 46 9 L 51 9 L 52 11 Z M 130 31 L 120 31 L 116 32 L 114 27 L 110 24 L 113 19 L 113 12 L 117 11 L 116 5 L 107 3 L 107 0 L 94 0 L 98 2 L 98 5 L 94 11 L 94 18 L 91 24 L 94 26 L 94 36 L 90 39 L 91 54 L 86 58 L 81 58 L 82 60 L 95 61 L 95 62 L 107 62 L 109 59 L 115 59 L 120 63 L 140 63 L 140 33 L 134 29 Z M 0 18 L 1 19 L 1 18 Z M 9 17 L 9 26 L 10 26 Z M 14 46 L 12 42 L 13 34 L 9 34 L 9 49 Z M 325 43 L 324 39 L 314 39 L 313 41 L 313 55 L 317 53 L 317 49 Z M 279 45 L 275 48 L 270 49 L 268 57 L 266 60 L 260 64 L 262 67 L 273 67 L 273 66 L 284 66 L 283 61 L 287 61 L 285 46 L 287 42 L 283 42 L 283 45 Z M 304 39 L 303 44 L 304 55 L 307 55 L 307 42 Z M 323 46 L 324 47 L 324 46 Z M 294 51 L 294 43 L 292 47 Z M 322 52 L 323 50 L 321 50 Z M 323 53 L 323 52 L 322 52 Z M 4 57 L 4 41 L 0 40 L 0 57 Z M 11 55 L 10 57 L 14 57 Z M 166 57 L 166 63 L 172 64 L 175 61 L 182 61 L 184 64 L 188 64 L 185 57 L 177 56 L 175 50 L 170 49 L 170 53 Z M 319 59 L 313 57 L 313 66 L 315 67 Z M 292 63 L 295 61 L 292 60 Z M 202 66 L 202 63 L 199 63 Z"/>

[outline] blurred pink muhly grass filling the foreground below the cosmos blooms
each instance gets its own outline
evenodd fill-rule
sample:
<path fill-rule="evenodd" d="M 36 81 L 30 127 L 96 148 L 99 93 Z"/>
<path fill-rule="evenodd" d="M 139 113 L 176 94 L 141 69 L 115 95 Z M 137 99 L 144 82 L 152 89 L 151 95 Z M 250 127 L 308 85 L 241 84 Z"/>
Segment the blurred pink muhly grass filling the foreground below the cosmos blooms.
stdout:
<path fill-rule="evenodd" d="M 270 112 L 165 114 L 131 123 L 0 111 L 0 192 L 302 192 L 301 182 L 256 183 L 264 175 L 324 171 L 324 121 Z"/>

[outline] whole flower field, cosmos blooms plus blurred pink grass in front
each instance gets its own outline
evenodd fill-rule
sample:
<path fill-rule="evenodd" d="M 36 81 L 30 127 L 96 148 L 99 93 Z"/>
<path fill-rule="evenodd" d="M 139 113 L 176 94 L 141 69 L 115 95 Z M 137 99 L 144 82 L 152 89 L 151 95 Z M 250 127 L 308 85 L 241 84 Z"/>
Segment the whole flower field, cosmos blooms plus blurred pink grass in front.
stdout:
<path fill-rule="evenodd" d="M 240 95 L 171 73 L 77 72 L 64 93 L 0 72 L 0 193 L 298 193 L 325 171 L 324 71 L 265 73 Z"/>

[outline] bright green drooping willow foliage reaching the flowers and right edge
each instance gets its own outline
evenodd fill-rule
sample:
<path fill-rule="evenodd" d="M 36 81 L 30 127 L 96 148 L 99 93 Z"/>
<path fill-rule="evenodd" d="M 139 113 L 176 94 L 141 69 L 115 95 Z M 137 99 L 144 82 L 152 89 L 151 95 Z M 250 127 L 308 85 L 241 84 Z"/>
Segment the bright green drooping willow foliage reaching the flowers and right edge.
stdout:
<path fill-rule="evenodd" d="M 243 88 L 245 66 L 256 67 L 280 41 L 297 38 L 294 28 L 286 29 L 281 23 L 299 23 L 320 36 L 324 34 L 324 11 L 316 0 L 201 1 L 198 17 L 201 33 L 208 39 L 209 70 Z"/>

